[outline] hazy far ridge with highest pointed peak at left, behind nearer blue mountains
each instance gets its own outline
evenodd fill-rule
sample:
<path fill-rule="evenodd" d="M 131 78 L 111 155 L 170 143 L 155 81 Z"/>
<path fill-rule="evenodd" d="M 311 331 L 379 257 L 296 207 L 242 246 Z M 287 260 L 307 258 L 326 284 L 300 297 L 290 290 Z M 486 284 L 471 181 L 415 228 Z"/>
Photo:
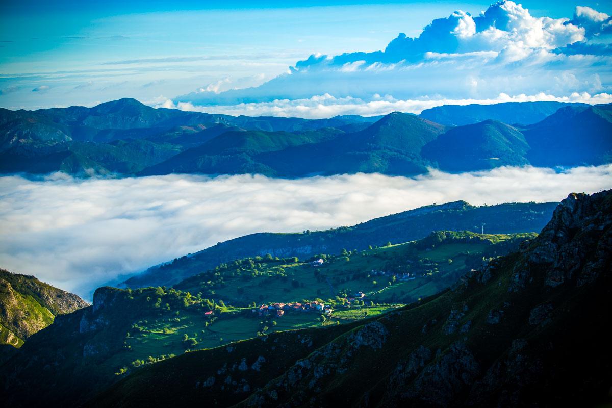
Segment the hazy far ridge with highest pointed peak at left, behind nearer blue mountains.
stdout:
<path fill-rule="evenodd" d="M 176 127 L 225 124 L 246 130 L 299 132 L 350 124 L 368 124 L 376 118 L 337 116 L 310 121 L 297 117 L 228 116 L 178 109 L 151 108 L 132 98 L 101 103 L 92 108 L 38 109 L 10 111 L 0 108 L 0 147 L 6 149 L 24 140 L 61 142 L 147 138 Z"/>

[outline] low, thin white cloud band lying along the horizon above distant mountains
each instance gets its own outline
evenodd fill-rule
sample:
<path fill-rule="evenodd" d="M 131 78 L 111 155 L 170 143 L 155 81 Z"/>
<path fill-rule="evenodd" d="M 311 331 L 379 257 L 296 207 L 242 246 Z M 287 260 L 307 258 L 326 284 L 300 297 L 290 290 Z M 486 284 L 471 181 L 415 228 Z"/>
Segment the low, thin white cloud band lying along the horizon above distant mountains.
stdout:
<path fill-rule="evenodd" d="M 474 80 L 476 81 L 476 80 Z M 477 86 L 477 84 L 476 84 Z M 593 105 L 598 103 L 612 103 L 612 94 L 591 95 L 588 92 L 581 94 L 573 93 L 564 97 L 556 97 L 543 92 L 535 95 L 507 95 L 499 94 L 494 98 L 422 98 L 401 100 L 391 95 L 378 95 L 368 99 L 356 97 L 337 98 L 330 94 L 315 95 L 310 98 L 299 99 L 275 99 L 272 102 L 249 102 L 237 103 L 236 105 L 193 105 L 190 102 L 174 103 L 168 98 L 157 98 L 151 101 L 156 108 L 181 109 L 183 111 L 196 111 L 204 113 L 218 113 L 232 116 L 280 116 L 280 117 L 305 117 L 307 119 L 321 119 L 337 115 L 356 114 L 361 116 L 386 115 L 391 112 L 400 111 L 419 114 L 424 109 L 442 105 L 469 105 L 478 103 L 490 105 L 501 102 L 583 102 Z"/>

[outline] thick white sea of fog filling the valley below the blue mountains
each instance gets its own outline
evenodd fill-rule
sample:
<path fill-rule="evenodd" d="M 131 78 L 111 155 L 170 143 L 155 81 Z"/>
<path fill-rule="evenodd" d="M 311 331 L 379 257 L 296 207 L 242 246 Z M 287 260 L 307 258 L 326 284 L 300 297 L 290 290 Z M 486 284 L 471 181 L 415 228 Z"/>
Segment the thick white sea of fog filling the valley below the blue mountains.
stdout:
<path fill-rule="evenodd" d="M 0 267 L 91 299 L 119 275 L 258 231 L 351 225 L 407 209 L 558 201 L 612 187 L 612 165 L 555 172 L 497 168 L 415 178 L 355 174 L 286 180 L 170 175 L 0 177 Z"/>

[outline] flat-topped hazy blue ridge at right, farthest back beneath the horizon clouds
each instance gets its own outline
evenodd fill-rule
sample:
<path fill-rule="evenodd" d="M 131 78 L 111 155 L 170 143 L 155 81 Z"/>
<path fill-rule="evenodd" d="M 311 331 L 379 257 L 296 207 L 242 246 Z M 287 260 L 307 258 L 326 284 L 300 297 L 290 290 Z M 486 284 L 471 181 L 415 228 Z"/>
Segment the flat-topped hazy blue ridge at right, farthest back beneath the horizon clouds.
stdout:
<path fill-rule="evenodd" d="M 540 122 L 564 106 L 583 106 L 586 103 L 568 102 L 504 102 L 491 105 L 443 105 L 425 109 L 420 117 L 447 126 L 476 124 L 491 119 L 506 124 L 531 125 Z"/>

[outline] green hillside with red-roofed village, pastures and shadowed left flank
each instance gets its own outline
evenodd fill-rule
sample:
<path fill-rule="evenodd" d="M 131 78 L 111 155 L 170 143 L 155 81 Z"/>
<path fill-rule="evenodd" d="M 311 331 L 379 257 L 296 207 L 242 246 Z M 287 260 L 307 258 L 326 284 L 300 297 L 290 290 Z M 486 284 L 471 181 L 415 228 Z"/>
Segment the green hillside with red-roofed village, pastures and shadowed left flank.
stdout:
<path fill-rule="evenodd" d="M 185 281 L 179 289 L 101 287 L 91 307 L 58 317 L 32 336 L 0 366 L 0 377 L 14 406 L 80 405 L 122 377 L 188 350 L 297 328 L 350 325 L 397 310 L 405 299 L 444 290 L 483 258 L 517 250 L 534 236 L 439 231 L 417 242 L 325 256 L 318 267 L 292 258 L 254 257 L 218 265 L 214 273 Z M 360 300 L 353 299 L 357 291 L 364 292 Z M 253 306 L 258 297 L 260 306 Z M 291 303 L 291 310 L 283 308 L 282 316 L 269 313 L 267 305 L 283 307 L 277 302 Z M 323 302 L 331 308 L 324 319 L 325 312 L 316 311 Z M 310 347 L 302 345 L 302 351 Z M 34 384 L 39 385 L 32 394 L 28 390 Z"/>

